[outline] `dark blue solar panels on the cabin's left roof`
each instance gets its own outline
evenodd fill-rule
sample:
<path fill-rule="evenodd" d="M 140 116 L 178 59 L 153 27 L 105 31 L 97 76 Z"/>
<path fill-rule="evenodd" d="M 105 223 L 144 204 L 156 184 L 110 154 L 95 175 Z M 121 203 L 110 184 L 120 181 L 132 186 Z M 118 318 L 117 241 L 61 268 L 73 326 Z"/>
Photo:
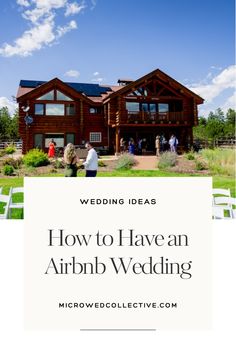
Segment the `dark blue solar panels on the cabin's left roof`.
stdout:
<path fill-rule="evenodd" d="M 35 81 L 35 80 L 21 80 L 21 87 L 36 88 L 40 85 L 45 84 L 47 81 Z M 110 87 L 101 87 L 98 84 L 87 84 L 87 83 L 76 83 L 76 82 L 65 82 L 66 85 L 72 87 L 75 91 L 84 93 L 86 96 L 99 97 L 101 94 L 111 91 Z"/>

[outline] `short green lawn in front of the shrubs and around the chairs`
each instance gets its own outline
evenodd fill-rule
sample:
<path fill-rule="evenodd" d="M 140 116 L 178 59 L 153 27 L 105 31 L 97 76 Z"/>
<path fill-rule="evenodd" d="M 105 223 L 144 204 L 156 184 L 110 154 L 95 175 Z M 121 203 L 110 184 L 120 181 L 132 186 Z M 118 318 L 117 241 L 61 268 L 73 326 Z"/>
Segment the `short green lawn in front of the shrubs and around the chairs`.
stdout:
<path fill-rule="evenodd" d="M 78 173 L 78 177 L 83 177 L 84 171 Z M 41 177 L 63 177 L 63 174 L 50 174 Z M 112 171 L 112 172 L 99 172 L 98 177 L 202 177 L 200 174 L 183 174 L 183 173 L 172 173 L 159 170 L 122 170 L 122 171 Z M 208 177 L 208 176 L 206 176 Z M 32 177 L 33 178 L 33 177 Z M 236 197 L 236 185 L 235 179 L 233 177 L 227 176 L 213 176 L 213 188 L 224 188 L 230 189 L 231 195 Z M 3 187 L 3 194 L 8 194 L 10 187 L 21 187 L 23 186 L 23 177 L 11 177 L 11 178 L 0 178 L 0 187 Z M 22 193 L 14 195 L 14 202 L 22 202 Z M 3 203 L 0 203 L 0 213 L 3 212 Z M 21 219 L 23 217 L 21 209 L 15 209 L 12 212 L 13 219 Z"/>

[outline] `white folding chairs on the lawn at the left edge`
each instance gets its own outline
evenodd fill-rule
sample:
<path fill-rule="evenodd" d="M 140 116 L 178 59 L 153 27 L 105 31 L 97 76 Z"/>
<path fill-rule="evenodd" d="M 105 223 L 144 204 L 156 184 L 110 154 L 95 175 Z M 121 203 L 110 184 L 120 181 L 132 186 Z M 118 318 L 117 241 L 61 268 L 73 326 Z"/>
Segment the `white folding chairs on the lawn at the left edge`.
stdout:
<path fill-rule="evenodd" d="M 13 202 L 13 195 L 16 193 L 24 193 L 24 187 L 11 187 L 9 195 L 2 194 L 2 187 L 0 187 L 0 202 L 4 203 L 0 219 L 11 219 L 13 209 L 24 209 L 24 202 Z"/>

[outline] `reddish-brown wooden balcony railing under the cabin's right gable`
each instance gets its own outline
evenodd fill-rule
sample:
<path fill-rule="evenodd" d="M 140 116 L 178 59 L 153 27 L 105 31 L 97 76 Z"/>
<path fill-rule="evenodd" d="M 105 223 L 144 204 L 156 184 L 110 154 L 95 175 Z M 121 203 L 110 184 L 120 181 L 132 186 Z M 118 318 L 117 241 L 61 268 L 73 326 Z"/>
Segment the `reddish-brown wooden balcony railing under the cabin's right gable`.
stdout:
<path fill-rule="evenodd" d="M 183 112 L 122 112 L 116 113 L 116 124 L 158 124 L 158 125 L 187 125 L 189 121 Z"/>

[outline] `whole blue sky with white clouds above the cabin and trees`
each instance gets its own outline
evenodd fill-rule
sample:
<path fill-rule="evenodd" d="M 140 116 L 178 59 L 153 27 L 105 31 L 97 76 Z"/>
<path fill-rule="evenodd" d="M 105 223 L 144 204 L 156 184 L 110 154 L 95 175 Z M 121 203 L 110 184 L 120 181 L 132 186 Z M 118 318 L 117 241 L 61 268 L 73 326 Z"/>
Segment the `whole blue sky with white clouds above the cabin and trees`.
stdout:
<path fill-rule="evenodd" d="M 115 84 L 160 68 L 235 105 L 234 0 L 0 0 L 0 107 L 20 79 Z"/>

